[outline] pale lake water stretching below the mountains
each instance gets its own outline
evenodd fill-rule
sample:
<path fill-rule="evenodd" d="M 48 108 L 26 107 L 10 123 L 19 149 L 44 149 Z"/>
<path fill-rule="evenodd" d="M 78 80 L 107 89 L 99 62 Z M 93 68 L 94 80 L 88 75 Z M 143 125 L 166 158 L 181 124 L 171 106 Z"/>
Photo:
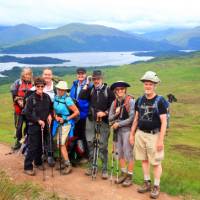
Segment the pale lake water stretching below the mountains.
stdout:
<path fill-rule="evenodd" d="M 47 56 L 52 58 L 60 58 L 70 60 L 62 64 L 48 64 L 48 65 L 27 65 L 17 62 L 0 63 L 0 72 L 12 69 L 14 66 L 18 67 L 51 67 L 51 66 L 76 66 L 76 67 L 93 67 L 93 66 L 111 66 L 111 65 L 124 65 L 137 61 L 148 61 L 153 57 L 151 56 L 135 56 L 134 52 L 86 52 L 86 53 L 48 53 L 48 54 L 0 54 L 12 55 L 15 57 L 38 57 Z"/>

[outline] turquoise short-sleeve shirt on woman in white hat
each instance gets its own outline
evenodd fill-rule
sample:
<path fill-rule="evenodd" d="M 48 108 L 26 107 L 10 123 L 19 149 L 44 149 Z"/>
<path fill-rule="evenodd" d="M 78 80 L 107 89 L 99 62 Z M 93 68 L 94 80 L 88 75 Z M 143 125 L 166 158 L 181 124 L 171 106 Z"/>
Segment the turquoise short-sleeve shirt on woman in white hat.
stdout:
<path fill-rule="evenodd" d="M 64 120 L 70 115 L 69 106 L 74 105 L 71 97 L 66 94 L 63 96 L 55 96 L 53 108 L 57 115 L 60 115 Z"/>

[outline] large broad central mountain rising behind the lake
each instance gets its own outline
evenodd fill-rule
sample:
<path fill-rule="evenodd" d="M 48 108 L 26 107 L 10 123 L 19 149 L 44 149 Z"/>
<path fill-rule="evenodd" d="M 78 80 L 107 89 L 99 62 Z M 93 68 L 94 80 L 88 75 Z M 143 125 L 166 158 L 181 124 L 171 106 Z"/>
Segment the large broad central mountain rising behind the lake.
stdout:
<path fill-rule="evenodd" d="M 46 30 L 31 39 L 1 48 L 1 52 L 59 53 L 176 49 L 176 46 L 168 42 L 151 41 L 106 26 L 72 23 L 54 30 Z"/>

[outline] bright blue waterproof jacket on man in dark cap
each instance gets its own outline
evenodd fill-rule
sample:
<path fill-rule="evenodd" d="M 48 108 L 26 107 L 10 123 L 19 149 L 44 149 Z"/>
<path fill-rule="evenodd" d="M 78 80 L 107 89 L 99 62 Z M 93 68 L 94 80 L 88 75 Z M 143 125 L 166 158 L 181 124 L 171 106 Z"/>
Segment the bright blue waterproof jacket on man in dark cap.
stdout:
<path fill-rule="evenodd" d="M 78 80 L 75 80 L 73 82 L 71 90 L 70 90 L 70 97 L 72 99 L 75 99 L 77 102 L 77 107 L 80 112 L 80 119 L 86 119 L 89 112 L 90 102 L 88 99 L 80 99 L 79 97 L 80 91 L 78 91 L 78 82 L 79 82 Z M 80 85 L 81 90 L 85 84 L 86 84 L 86 80 L 84 80 L 83 83 Z M 90 87 L 92 87 L 92 85 L 90 85 L 89 88 Z"/>

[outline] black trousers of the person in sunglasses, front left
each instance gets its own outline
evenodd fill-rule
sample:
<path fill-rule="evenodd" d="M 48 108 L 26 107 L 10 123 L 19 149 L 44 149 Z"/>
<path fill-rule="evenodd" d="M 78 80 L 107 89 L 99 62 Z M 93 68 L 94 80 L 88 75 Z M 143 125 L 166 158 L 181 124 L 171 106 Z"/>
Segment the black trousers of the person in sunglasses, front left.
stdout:
<path fill-rule="evenodd" d="M 32 170 L 35 165 L 42 165 L 42 133 L 39 125 L 28 127 L 28 151 L 24 160 L 24 169 Z"/>

